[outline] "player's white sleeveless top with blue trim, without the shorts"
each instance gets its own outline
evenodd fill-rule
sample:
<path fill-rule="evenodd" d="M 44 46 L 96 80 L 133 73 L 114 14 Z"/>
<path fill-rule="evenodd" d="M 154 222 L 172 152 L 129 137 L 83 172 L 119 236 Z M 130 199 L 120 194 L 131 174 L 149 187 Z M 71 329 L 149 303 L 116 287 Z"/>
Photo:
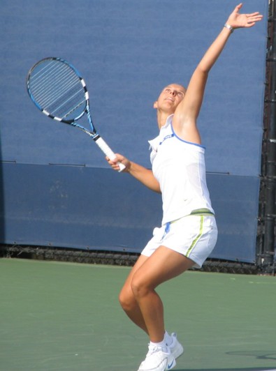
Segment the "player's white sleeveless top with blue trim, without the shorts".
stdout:
<path fill-rule="evenodd" d="M 152 172 L 162 192 L 162 225 L 196 209 L 214 213 L 206 185 L 205 147 L 177 137 L 172 121 L 173 115 L 168 116 L 158 137 L 149 141 Z"/>

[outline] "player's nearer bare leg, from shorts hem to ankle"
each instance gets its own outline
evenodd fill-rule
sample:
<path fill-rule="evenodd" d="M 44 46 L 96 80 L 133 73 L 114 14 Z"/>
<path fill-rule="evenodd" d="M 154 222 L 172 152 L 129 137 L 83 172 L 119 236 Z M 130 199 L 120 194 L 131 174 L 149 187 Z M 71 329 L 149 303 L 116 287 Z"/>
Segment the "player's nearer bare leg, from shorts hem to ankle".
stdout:
<path fill-rule="evenodd" d="M 155 288 L 162 282 L 187 271 L 193 265 L 191 259 L 160 246 L 133 272 L 131 289 L 139 305 L 140 315 L 143 316 L 143 326 L 147 329 L 146 332 L 152 342 L 161 342 L 165 333 L 163 303 Z"/>

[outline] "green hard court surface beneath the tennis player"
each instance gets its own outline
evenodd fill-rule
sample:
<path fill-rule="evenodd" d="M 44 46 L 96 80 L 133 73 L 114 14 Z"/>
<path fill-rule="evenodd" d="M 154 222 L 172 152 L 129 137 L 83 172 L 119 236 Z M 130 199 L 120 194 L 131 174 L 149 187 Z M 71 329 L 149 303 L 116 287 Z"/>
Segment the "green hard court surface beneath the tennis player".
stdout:
<path fill-rule="evenodd" d="M 138 370 L 148 340 L 117 302 L 129 269 L 0 259 L 0 370 Z M 158 292 L 185 347 L 173 370 L 276 370 L 276 277 L 189 271 Z"/>

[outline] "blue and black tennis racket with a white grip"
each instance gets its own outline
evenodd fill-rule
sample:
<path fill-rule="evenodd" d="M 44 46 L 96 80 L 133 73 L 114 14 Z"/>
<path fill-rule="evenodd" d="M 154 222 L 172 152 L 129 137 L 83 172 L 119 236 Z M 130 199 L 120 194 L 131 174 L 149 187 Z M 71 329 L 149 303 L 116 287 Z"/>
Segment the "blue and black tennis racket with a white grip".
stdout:
<path fill-rule="evenodd" d="M 115 160 L 115 153 L 93 124 L 85 80 L 70 63 L 55 57 L 38 61 L 27 75 L 27 91 L 43 114 L 84 131 L 110 160 Z M 85 113 L 91 130 L 77 123 Z M 121 162 L 118 165 L 122 172 L 125 166 Z"/>

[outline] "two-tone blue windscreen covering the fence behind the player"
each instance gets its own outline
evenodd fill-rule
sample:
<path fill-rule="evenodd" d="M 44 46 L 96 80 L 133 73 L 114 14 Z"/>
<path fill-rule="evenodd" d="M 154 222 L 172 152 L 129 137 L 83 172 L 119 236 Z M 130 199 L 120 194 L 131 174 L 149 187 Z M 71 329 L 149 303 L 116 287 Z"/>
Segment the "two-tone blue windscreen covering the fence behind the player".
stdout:
<path fill-rule="evenodd" d="M 161 222 L 161 199 L 108 168 L 82 132 L 42 115 L 25 79 L 45 56 L 71 61 L 112 148 L 150 167 L 154 100 L 186 85 L 236 1 L 3 0 L 1 2 L 1 243 L 138 252 Z M 219 239 L 212 257 L 254 262 L 259 207 L 264 20 L 236 30 L 210 73 L 198 126 Z"/>

